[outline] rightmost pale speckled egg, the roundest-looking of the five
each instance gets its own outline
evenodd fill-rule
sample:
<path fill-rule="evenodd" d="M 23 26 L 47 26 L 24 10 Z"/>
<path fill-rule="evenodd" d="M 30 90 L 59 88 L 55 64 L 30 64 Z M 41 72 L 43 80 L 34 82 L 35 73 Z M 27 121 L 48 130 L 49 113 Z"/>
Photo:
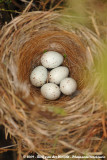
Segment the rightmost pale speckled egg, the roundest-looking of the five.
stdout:
<path fill-rule="evenodd" d="M 60 90 L 65 95 L 71 95 L 77 89 L 77 83 L 73 78 L 65 78 L 60 83 Z"/>

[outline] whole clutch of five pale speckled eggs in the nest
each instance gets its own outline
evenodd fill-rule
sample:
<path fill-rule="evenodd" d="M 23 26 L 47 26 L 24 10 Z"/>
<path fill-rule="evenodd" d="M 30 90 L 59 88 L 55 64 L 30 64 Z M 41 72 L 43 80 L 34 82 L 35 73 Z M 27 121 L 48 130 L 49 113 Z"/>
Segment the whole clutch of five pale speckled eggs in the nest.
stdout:
<path fill-rule="evenodd" d="M 58 52 L 45 52 L 41 57 L 42 65 L 34 68 L 30 74 L 31 84 L 41 87 L 41 94 L 46 99 L 56 100 L 60 97 L 61 92 L 64 95 L 72 95 L 77 89 L 76 81 L 68 77 L 69 69 L 60 66 L 63 60 L 63 56 Z"/>

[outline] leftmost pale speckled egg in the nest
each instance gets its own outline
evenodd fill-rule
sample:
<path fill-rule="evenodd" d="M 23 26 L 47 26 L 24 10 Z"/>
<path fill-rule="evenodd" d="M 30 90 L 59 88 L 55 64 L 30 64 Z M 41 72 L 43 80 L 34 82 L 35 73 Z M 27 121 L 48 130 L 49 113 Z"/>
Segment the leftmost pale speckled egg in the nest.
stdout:
<path fill-rule="evenodd" d="M 36 87 L 41 87 L 47 80 L 48 72 L 43 66 L 36 67 L 30 74 L 30 81 Z"/>

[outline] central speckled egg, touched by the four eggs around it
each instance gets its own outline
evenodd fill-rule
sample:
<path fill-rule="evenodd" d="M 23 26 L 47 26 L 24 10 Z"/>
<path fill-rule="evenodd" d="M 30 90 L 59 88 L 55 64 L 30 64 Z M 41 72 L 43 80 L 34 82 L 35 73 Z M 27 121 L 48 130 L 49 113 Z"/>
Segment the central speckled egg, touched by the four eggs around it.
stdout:
<path fill-rule="evenodd" d="M 61 80 L 68 77 L 69 69 L 64 66 L 54 68 L 49 73 L 49 82 L 59 84 Z"/>

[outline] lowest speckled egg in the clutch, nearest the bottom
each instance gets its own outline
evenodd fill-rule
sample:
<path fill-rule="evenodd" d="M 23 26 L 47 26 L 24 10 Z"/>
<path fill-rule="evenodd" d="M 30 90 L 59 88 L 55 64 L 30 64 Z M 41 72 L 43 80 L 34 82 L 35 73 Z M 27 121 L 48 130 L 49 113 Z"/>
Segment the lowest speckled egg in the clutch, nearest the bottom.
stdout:
<path fill-rule="evenodd" d="M 46 83 L 41 87 L 41 94 L 49 100 L 56 100 L 59 98 L 61 92 L 59 86 L 54 83 Z"/>

